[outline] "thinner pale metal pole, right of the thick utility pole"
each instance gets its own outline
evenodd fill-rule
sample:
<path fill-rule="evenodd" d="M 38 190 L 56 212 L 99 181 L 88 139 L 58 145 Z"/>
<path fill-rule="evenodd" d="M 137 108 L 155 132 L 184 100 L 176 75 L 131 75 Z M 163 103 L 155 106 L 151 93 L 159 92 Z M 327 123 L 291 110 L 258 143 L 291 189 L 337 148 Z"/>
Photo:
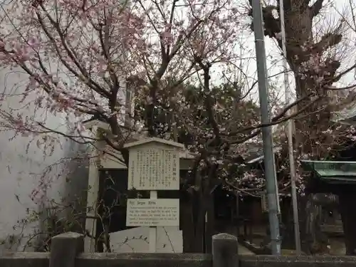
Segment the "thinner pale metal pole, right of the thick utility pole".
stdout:
<path fill-rule="evenodd" d="M 279 17 L 281 19 L 281 36 L 282 36 L 282 51 L 283 51 L 283 69 L 284 69 L 284 89 L 286 93 L 286 105 L 290 104 L 290 87 L 288 80 L 288 63 L 287 63 L 287 48 L 286 48 L 286 26 L 284 25 L 284 6 L 283 0 L 279 1 Z M 288 110 L 290 115 L 290 110 Z M 293 204 L 293 223 L 294 223 L 294 237 L 295 237 L 295 250 L 298 255 L 301 253 L 300 248 L 300 233 L 299 233 L 299 218 L 298 218 L 298 201 L 297 189 L 295 187 L 295 162 L 293 152 L 293 120 L 288 120 L 286 127 L 288 137 L 288 157 L 290 167 L 290 187 L 292 191 L 292 204 Z"/>

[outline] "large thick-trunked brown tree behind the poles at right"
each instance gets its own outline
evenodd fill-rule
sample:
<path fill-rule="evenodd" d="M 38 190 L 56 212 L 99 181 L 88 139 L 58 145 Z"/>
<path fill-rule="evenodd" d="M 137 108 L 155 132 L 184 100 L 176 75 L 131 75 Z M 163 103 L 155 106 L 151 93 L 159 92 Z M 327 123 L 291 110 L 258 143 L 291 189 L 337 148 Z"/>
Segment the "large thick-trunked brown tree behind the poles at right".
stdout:
<path fill-rule="evenodd" d="M 282 48 L 279 1 L 275 3 L 263 6 L 264 30 L 265 36 L 273 38 Z M 340 150 L 355 140 L 354 127 L 332 122 L 335 111 L 355 100 L 355 93 L 352 92 L 355 83 L 341 85 L 342 79 L 355 70 L 355 64 L 347 59 L 355 53 L 352 51 L 352 37 L 349 37 L 355 33 L 355 23 L 352 22 L 355 21 L 355 16 L 352 16 L 355 6 L 350 2 L 348 13 L 351 16 L 347 16 L 335 8 L 336 1 L 292 0 L 283 1 L 283 4 L 286 59 L 294 76 L 296 96 L 305 98 L 298 104 L 298 110 L 303 112 L 295 117 L 296 156 L 298 159 L 335 159 Z M 323 9 L 329 9 L 339 19 L 328 20 L 322 13 Z M 251 9 L 249 16 L 252 16 Z M 338 85 L 335 86 L 335 83 Z M 335 98 L 342 90 L 342 98 Z M 283 167 L 288 170 L 286 160 Z M 305 179 L 301 169 L 298 175 L 305 187 L 308 179 Z M 344 199 L 348 200 L 342 206 L 350 205 L 353 201 L 350 197 Z M 348 211 L 344 214 L 344 223 L 355 220 L 350 214 L 352 212 Z M 349 224 L 346 222 L 345 226 Z M 345 227 L 344 231 L 347 239 L 355 240 L 353 229 Z M 355 244 L 350 241 L 346 241 L 346 244 L 347 253 L 355 253 Z"/>

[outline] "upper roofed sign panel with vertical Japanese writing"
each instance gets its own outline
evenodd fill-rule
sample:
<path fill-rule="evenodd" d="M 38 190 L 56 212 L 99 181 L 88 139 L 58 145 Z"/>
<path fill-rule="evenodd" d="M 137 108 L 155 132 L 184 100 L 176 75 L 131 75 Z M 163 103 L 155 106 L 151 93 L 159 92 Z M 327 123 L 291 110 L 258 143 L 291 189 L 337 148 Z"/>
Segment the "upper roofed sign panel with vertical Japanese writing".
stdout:
<path fill-rule="evenodd" d="M 179 150 L 157 144 L 132 147 L 128 176 L 128 189 L 179 190 Z"/>

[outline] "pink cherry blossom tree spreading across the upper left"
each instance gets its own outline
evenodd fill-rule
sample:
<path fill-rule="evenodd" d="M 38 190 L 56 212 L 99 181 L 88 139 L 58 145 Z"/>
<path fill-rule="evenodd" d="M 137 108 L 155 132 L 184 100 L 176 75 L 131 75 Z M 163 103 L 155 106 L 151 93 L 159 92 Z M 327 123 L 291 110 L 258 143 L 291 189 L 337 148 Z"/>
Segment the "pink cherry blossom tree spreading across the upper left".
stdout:
<path fill-rule="evenodd" d="M 149 81 L 137 96 L 144 100 L 148 133 L 155 136 L 155 107 L 174 93 L 162 88 L 162 77 L 174 73 L 182 82 L 197 73 L 197 55 L 209 54 L 211 63 L 231 60 L 229 45 L 239 21 L 229 1 L 18 0 L 1 8 L 1 66 L 28 77 L 23 92 L 4 92 L 2 100 L 20 95 L 38 112 L 65 117 L 75 131 L 56 130 L 46 117 L 19 110 L 1 110 L 1 126 L 33 136 L 52 153 L 58 135 L 92 146 L 104 141 L 121 152 L 125 163 L 123 145 L 136 130 L 120 123 L 126 77 Z M 91 116 L 108 123 L 110 131 L 84 135 L 83 121 Z"/>

